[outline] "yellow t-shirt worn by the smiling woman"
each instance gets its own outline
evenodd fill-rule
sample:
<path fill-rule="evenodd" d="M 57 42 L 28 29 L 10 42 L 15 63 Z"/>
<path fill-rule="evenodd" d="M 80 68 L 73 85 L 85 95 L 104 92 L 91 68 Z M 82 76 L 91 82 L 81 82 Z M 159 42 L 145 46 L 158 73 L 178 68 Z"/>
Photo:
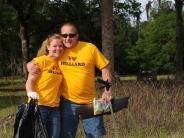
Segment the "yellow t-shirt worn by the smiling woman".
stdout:
<path fill-rule="evenodd" d="M 41 69 L 35 89 L 39 94 L 38 105 L 58 107 L 60 102 L 60 85 L 62 73 L 58 66 L 58 61 L 52 60 L 48 56 L 40 56 L 33 59 L 39 64 Z"/>

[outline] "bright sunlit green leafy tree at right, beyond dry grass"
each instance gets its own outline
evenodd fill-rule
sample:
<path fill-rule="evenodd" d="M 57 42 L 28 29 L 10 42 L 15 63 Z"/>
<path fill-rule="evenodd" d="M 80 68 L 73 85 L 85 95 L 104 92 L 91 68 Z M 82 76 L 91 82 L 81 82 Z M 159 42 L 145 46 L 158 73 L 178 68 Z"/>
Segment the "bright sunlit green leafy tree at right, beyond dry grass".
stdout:
<path fill-rule="evenodd" d="M 175 71 L 175 23 L 174 11 L 161 11 L 151 22 L 142 24 L 135 47 L 128 50 L 131 65 L 140 70 Z"/>

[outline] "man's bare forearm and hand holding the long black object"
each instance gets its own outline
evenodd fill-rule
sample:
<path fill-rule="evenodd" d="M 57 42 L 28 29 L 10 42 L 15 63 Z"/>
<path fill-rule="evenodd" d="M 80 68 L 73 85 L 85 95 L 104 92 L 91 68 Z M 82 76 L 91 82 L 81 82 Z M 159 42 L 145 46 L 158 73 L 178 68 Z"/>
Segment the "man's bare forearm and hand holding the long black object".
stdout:
<path fill-rule="evenodd" d="M 108 67 L 102 69 L 102 79 L 104 81 L 108 80 L 109 83 L 112 83 L 112 74 L 111 71 L 108 69 Z M 110 87 L 108 91 L 105 88 L 102 94 L 102 100 L 104 102 L 109 102 L 111 99 L 112 99 L 112 88 Z"/>

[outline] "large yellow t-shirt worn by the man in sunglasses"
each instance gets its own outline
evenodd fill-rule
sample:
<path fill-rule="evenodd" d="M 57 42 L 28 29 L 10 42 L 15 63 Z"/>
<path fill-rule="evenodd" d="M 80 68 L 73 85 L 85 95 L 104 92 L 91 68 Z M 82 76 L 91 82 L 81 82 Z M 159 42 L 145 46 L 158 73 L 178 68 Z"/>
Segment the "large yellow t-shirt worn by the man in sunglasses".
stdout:
<path fill-rule="evenodd" d="M 63 74 L 62 95 L 75 103 L 92 103 L 96 96 L 95 66 L 104 68 L 109 61 L 91 43 L 79 41 L 77 46 L 66 48 L 59 61 Z"/>

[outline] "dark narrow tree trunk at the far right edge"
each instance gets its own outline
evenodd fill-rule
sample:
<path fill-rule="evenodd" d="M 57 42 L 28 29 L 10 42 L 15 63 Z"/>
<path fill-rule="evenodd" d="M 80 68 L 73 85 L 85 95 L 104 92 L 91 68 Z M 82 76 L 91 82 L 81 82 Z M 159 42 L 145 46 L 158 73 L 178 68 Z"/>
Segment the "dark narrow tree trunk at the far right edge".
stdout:
<path fill-rule="evenodd" d="M 176 79 L 182 80 L 183 72 L 183 46 L 184 46 L 184 27 L 182 17 L 183 0 L 175 0 L 176 8 Z"/>

